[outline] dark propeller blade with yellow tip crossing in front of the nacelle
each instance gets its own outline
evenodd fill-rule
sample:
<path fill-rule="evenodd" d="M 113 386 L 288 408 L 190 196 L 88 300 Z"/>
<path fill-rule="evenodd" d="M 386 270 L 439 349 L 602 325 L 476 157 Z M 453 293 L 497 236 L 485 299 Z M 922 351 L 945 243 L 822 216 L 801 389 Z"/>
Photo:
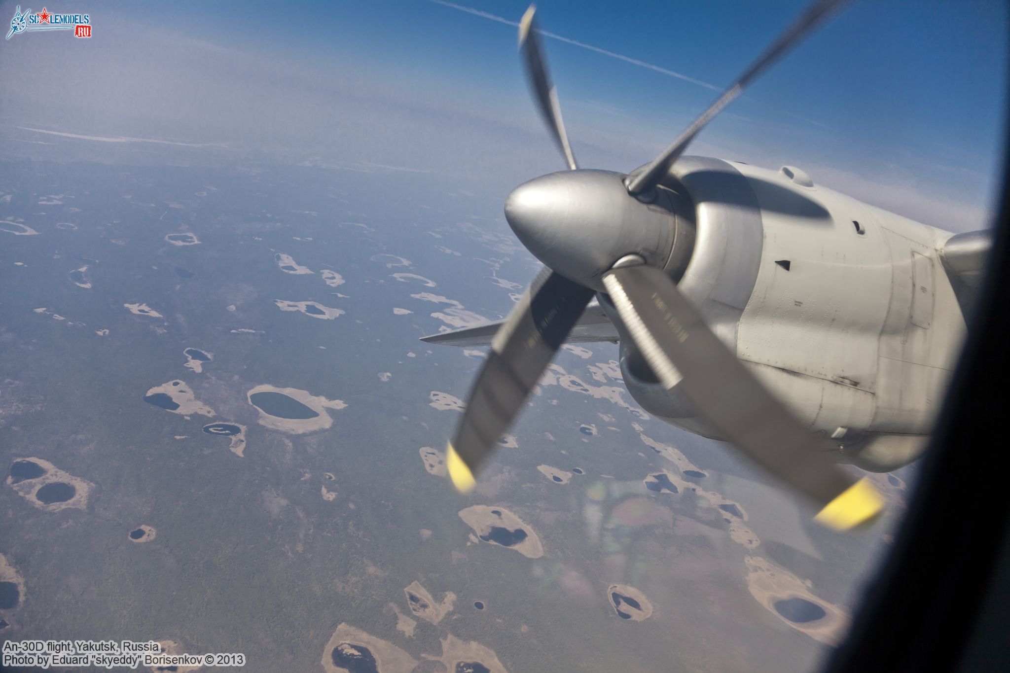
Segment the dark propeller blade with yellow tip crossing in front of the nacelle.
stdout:
<path fill-rule="evenodd" d="M 817 502 L 820 523 L 847 530 L 880 514 L 884 500 L 873 485 L 831 461 L 833 445 L 804 428 L 743 366 L 666 273 L 620 266 L 603 284 L 660 380 L 680 383 L 723 437 Z"/>

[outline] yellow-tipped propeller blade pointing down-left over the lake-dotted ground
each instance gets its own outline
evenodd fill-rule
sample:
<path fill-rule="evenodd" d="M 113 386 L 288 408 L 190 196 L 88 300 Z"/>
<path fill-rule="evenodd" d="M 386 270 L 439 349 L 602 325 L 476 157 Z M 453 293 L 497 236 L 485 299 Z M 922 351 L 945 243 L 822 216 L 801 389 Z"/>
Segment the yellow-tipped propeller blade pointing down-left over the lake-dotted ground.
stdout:
<path fill-rule="evenodd" d="M 474 487 L 474 472 L 519 415 L 594 294 L 544 268 L 499 328 L 445 455 L 461 491 Z"/>

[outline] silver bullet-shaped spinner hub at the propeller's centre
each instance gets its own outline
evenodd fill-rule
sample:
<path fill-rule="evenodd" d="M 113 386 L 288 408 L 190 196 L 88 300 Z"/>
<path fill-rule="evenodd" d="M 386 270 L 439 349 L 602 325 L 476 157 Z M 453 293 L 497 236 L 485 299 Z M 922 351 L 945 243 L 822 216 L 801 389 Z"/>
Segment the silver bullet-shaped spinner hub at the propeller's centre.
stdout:
<path fill-rule="evenodd" d="M 655 188 L 648 199 L 637 199 L 628 194 L 623 179 L 619 173 L 594 170 L 535 178 L 509 195 L 505 219 L 544 265 L 597 292 L 606 292 L 603 273 L 628 254 L 679 273 L 683 269 L 671 266 L 690 256 L 693 208 L 665 187 Z"/>

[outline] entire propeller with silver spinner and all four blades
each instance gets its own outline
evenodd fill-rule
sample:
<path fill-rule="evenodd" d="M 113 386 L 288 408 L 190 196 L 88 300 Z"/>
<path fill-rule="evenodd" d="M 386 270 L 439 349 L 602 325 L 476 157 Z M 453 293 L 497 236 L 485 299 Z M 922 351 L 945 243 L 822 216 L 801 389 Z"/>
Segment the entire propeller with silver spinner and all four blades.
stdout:
<path fill-rule="evenodd" d="M 629 176 L 580 171 L 537 35 L 535 8 L 519 24 L 519 50 L 534 100 L 570 171 L 516 188 L 505 216 L 545 265 L 499 328 L 448 445 L 452 483 L 474 473 L 518 416 L 554 353 L 596 292 L 606 293 L 648 366 L 678 385 L 737 449 L 819 508 L 817 520 L 845 530 L 875 519 L 883 498 L 829 454 L 834 446 L 804 428 L 709 329 L 664 271 L 675 243 L 664 239 L 671 207 L 661 186 L 694 137 L 758 75 L 808 35 L 844 0 L 817 0 L 662 154 Z M 669 243 L 669 244 L 668 244 Z"/>

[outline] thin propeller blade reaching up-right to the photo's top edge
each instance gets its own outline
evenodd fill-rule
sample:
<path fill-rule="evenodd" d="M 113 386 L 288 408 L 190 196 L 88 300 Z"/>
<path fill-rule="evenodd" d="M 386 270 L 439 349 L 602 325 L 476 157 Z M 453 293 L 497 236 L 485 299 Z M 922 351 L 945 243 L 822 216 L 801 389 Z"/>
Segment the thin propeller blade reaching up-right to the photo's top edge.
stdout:
<path fill-rule="evenodd" d="M 804 37 L 813 32 L 814 28 L 827 17 L 832 11 L 840 7 L 848 0 L 817 0 L 807 7 L 793 23 L 786 28 L 779 38 L 772 42 L 765 52 L 743 72 L 732 86 L 728 87 L 722 95 L 700 117 L 691 122 L 691 125 L 681 133 L 673 144 L 663 150 L 663 153 L 652 159 L 652 162 L 645 166 L 641 173 L 628 176 L 625 184 L 628 193 L 635 195 L 647 192 L 655 187 L 663 177 L 670 171 L 684 150 L 687 149 L 694 137 L 705 128 L 708 122 L 712 121 L 715 115 L 719 114 L 724 107 L 729 105 L 743 93 L 743 89 L 750 82 L 775 63 L 791 47 L 795 46 Z"/>

